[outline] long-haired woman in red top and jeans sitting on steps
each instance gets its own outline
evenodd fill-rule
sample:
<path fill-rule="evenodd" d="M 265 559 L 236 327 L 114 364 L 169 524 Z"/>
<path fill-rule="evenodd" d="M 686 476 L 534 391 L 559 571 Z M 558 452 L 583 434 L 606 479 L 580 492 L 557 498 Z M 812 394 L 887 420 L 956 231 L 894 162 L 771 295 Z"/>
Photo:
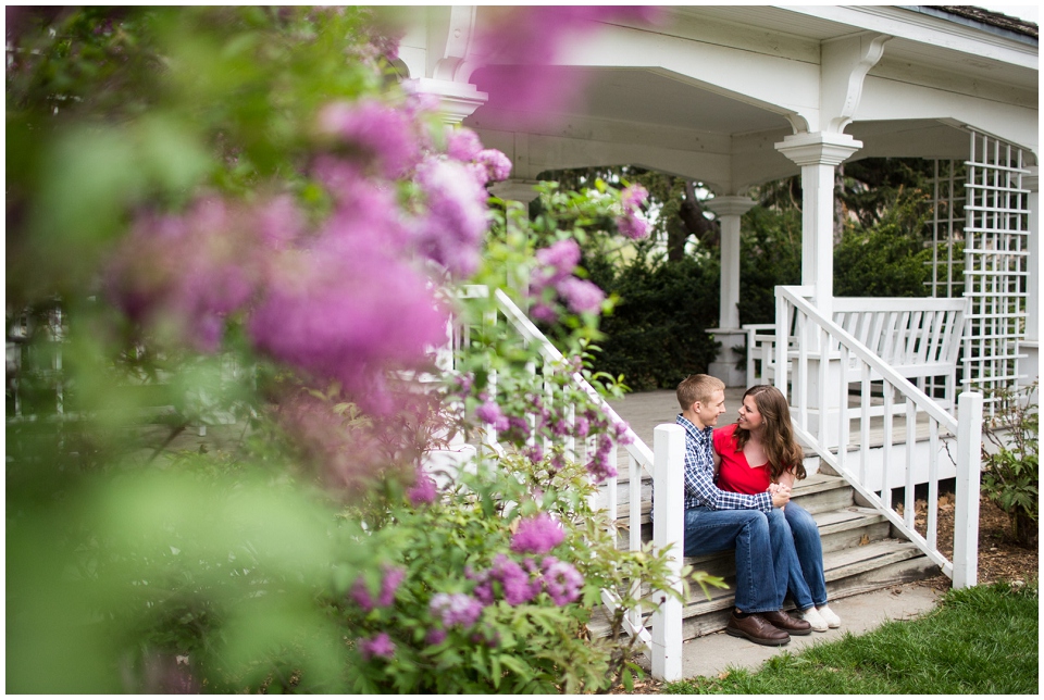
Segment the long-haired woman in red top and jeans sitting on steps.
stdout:
<path fill-rule="evenodd" d="M 773 386 L 747 389 L 739 420 L 716 429 L 713 442 L 718 488 L 724 491 L 790 490 L 796 479 L 805 478 L 805 454 L 791 429 L 786 398 Z M 794 501 L 783 508 L 783 514 L 796 552 L 787 582 L 794 602 L 816 632 L 841 626 L 841 618 L 826 604 L 823 546 L 816 521 Z"/>

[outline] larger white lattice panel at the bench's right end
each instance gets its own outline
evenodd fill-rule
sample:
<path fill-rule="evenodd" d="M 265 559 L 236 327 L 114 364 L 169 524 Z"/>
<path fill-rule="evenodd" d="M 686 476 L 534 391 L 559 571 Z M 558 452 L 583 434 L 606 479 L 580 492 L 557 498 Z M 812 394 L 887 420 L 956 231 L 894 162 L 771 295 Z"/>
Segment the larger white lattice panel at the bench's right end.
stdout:
<path fill-rule="evenodd" d="M 971 133 L 965 202 L 965 387 L 982 391 L 993 415 L 998 387 L 1019 384 L 1026 333 L 1029 190 L 1022 150 Z"/>

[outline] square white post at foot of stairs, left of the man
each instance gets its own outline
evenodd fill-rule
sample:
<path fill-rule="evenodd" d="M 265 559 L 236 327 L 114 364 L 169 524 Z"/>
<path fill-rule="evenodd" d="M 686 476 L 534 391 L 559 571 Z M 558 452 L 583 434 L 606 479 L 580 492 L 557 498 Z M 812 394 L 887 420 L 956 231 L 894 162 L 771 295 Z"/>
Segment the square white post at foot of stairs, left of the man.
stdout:
<path fill-rule="evenodd" d="M 652 546 L 669 551 L 672 587 L 682 589 L 682 557 L 685 538 L 685 429 L 664 423 L 652 433 Z M 682 677 L 682 602 L 667 593 L 652 614 L 652 677 Z"/>

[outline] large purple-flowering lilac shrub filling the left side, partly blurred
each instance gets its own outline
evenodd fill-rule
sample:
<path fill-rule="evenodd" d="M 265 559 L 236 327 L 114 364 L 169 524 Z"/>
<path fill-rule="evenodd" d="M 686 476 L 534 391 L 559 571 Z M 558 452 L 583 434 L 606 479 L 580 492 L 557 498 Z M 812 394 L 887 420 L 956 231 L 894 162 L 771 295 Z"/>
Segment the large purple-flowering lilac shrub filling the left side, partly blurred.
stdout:
<path fill-rule="evenodd" d="M 642 193 L 489 200 L 510 162 L 386 84 L 368 10 L 9 17 L 8 689 L 631 677 L 620 613 L 586 624 L 666 563 L 592 512 L 625 427 L 566 377 L 619 390 L 584 363 L 612 300 L 570 240 L 637 235 Z M 562 372 L 469 283 L 532 303 Z M 476 332 L 435 382 L 451 313 Z M 508 457 L 439 489 L 424 453 L 489 426 Z"/>

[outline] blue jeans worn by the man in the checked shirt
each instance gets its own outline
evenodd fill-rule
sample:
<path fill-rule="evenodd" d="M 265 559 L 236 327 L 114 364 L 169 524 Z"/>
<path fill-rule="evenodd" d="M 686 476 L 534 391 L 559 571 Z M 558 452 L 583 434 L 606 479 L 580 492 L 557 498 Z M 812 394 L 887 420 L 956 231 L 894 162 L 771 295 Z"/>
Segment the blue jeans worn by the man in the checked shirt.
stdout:
<path fill-rule="evenodd" d="M 776 509 L 778 510 L 778 509 Z M 736 608 L 758 613 L 780 610 L 786 592 L 786 576 L 776 576 L 776 567 L 788 571 L 783 527 L 769 528 L 769 518 L 779 517 L 761 511 L 714 511 L 692 508 L 685 511 L 685 555 L 700 557 L 736 550 Z M 775 538 L 771 537 L 775 534 Z M 790 548 L 793 552 L 793 547 Z M 780 579 L 783 582 L 780 588 Z"/>

